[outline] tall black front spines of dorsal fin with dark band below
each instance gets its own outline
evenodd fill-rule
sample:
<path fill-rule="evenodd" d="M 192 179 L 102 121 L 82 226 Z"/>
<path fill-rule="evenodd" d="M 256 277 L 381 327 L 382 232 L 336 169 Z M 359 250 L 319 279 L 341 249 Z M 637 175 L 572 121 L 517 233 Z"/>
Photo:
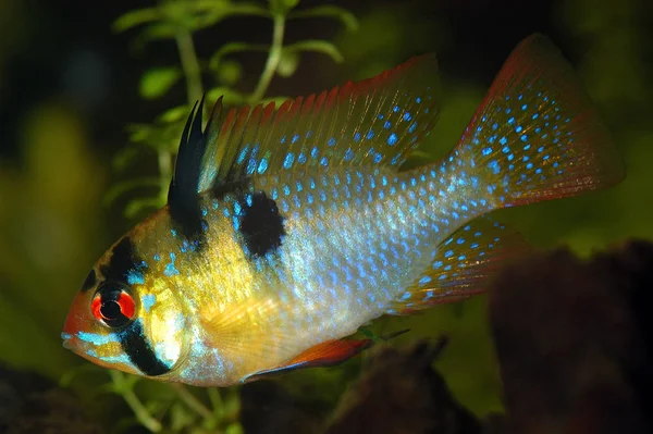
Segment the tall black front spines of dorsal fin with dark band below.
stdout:
<path fill-rule="evenodd" d="M 174 166 L 174 176 L 168 189 L 170 218 L 175 228 L 198 247 L 204 245 L 201 211 L 199 204 L 199 179 L 202 159 L 208 148 L 208 125 L 201 131 L 204 98 L 195 111 L 193 108 L 182 133 L 180 150 Z"/>

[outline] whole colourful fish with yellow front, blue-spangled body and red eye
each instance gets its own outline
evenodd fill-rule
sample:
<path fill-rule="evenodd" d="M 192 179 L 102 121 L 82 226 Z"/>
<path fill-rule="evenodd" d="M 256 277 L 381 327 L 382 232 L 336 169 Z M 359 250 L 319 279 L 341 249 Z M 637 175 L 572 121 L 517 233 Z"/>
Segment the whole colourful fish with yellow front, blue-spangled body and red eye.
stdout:
<path fill-rule="evenodd" d="M 483 292 L 528 251 L 488 214 L 615 185 L 611 135 L 543 35 L 510 53 L 453 150 L 402 169 L 432 131 L 434 54 L 276 107 L 204 99 L 168 203 L 97 261 L 65 348 L 101 367 L 231 386 L 365 350 L 382 315 Z"/>

